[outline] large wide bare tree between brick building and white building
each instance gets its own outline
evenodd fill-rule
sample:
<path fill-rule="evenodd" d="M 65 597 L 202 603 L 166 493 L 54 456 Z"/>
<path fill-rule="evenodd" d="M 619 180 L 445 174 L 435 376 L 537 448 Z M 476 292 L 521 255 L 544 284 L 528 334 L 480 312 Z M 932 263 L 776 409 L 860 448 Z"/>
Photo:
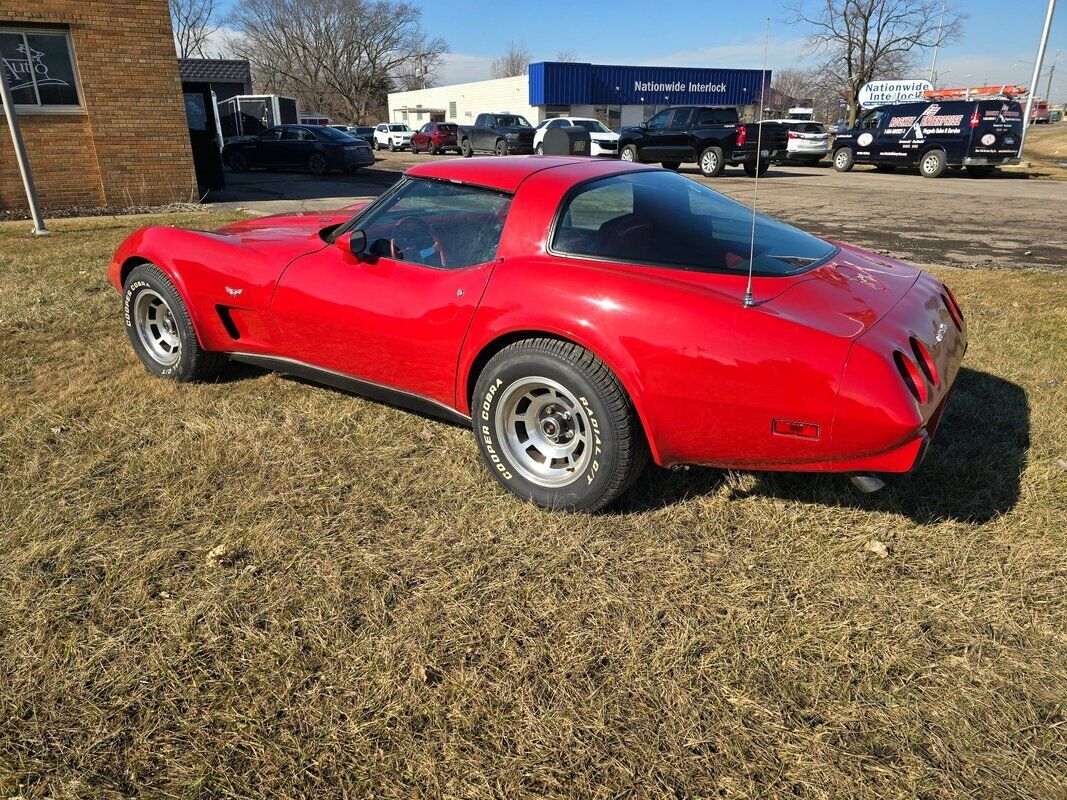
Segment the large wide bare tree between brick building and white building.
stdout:
<path fill-rule="evenodd" d="M 264 89 L 357 123 L 380 116 L 393 89 L 431 85 L 447 51 L 407 2 L 237 0 L 227 21 Z"/>

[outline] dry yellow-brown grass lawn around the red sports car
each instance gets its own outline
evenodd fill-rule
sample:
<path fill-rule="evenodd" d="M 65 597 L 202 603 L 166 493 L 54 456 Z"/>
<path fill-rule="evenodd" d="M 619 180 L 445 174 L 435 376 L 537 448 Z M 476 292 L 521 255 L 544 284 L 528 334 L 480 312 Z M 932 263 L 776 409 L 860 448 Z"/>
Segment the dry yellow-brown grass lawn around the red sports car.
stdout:
<path fill-rule="evenodd" d="M 0 226 L 0 797 L 1067 795 L 1067 273 L 939 273 L 967 369 L 880 494 L 652 470 L 578 516 L 457 427 L 149 378 L 136 224 Z"/>

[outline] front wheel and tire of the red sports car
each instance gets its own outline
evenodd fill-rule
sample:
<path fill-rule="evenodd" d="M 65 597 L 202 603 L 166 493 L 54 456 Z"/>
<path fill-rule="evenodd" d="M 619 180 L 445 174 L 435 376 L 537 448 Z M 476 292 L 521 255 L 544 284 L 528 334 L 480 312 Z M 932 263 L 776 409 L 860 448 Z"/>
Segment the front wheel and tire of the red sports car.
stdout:
<path fill-rule="evenodd" d="M 123 286 L 123 321 L 145 369 L 175 381 L 207 381 L 226 363 L 201 347 L 189 310 L 166 274 L 152 263 L 134 267 Z"/>

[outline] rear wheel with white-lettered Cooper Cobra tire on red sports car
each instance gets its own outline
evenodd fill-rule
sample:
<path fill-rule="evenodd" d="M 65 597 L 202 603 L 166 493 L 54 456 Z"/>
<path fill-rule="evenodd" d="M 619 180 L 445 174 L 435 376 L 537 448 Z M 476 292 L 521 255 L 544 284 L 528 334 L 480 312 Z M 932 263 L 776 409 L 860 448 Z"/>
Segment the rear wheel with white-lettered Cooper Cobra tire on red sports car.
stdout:
<path fill-rule="evenodd" d="M 509 345 L 472 399 L 482 458 L 506 489 L 541 508 L 596 511 L 648 463 L 619 379 L 588 350 L 537 338 Z"/>

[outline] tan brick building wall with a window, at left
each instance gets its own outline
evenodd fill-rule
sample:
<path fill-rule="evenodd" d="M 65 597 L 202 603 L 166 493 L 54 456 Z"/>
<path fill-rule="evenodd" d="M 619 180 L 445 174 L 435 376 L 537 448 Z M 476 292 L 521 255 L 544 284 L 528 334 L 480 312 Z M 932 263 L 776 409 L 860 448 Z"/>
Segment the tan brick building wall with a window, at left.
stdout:
<path fill-rule="evenodd" d="M 0 57 L 42 206 L 195 194 L 168 0 L 0 0 Z M 25 207 L 4 124 L 0 209 Z"/>

